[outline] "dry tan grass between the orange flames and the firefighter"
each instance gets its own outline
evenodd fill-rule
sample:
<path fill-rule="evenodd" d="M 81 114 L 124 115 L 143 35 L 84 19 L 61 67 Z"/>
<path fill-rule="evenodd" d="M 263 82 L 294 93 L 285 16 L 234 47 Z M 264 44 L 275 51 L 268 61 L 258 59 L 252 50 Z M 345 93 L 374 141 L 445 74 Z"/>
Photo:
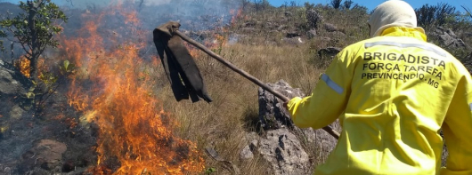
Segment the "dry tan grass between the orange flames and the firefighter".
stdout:
<path fill-rule="evenodd" d="M 320 7 L 321 8 L 321 7 Z M 293 11 L 289 26 L 303 26 L 305 9 L 285 9 Z M 338 18 L 329 17 L 324 21 L 343 28 L 346 36 L 333 36 L 330 41 L 322 37 L 311 40 L 304 38 L 305 44 L 285 44 L 281 42 L 283 34 L 267 31 L 264 28 L 266 21 L 277 22 L 284 15 L 284 9 L 269 9 L 266 12 L 250 12 L 246 20 L 238 21 L 230 32 L 243 33 L 238 25 L 245 22 L 255 22 L 256 31 L 246 33 L 245 38 L 240 38 L 238 44 L 224 45 L 220 55 L 224 60 L 231 61 L 235 66 L 247 71 L 252 76 L 265 83 L 275 83 L 280 79 L 288 82 L 292 87 L 300 88 L 305 94 L 309 94 L 319 76 L 324 71 L 330 60 L 318 58 L 317 51 L 327 46 L 344 47 L 367 37 L 366 28 L 359 21 L 366 21 L 366 17 L 353 20 L 352 12 L 336 12 L 327 9 L 319 9 L 325 16 L 337 15 Z M 355 25 L 354 25 L 355 24 Z M 301 29 L 303 30 L 303 29 Z M 303 33 L 303 31 L 300 31 Z M 363 32 L 363 33 L 362 33 Z M 326 31 L 319 30 L 322 36 L 329 35 Z M 250 139 L 248 133 L 257 129 L 257 89 L 255 84 L 244 77 L 225 68 L 218 61 L 208 57 L 203 52 L 195 58 L 200 72 L 204 77 L 210 96 L 214 102 L 208 104 L 204 101 L 191 103 L 190 100 L 176 102 L 167 82 L 162 68 L 158 71 L 156 92 L 162 100 L 164 109 L 180 124 L 175 129 L 175 134 L 183 139 L 190 139 L 197 143 L 199 150 L 205 156 L 206 167 L 215 168 L 215 174 L 232 174 L 232 171 L 224 165 L 204 154 L 206 147 L 214 148 L 224 160 L 232 162 L 239 167 L 241 174 L 273 174 L 271 165 L 266 163 L 260 155 L 251 160 L 240 160 L 240 151 L 247 146 Z M 299 136 L 303 137 L 303 136 Z M 306 153 L 313 161 L 313 166 L 324 162 L 329 154 L 327 150 L 321 150 L 321 143 L 308 143 L 301 138 Z M 313 170 L 313 169 L 312 169 Z"/>

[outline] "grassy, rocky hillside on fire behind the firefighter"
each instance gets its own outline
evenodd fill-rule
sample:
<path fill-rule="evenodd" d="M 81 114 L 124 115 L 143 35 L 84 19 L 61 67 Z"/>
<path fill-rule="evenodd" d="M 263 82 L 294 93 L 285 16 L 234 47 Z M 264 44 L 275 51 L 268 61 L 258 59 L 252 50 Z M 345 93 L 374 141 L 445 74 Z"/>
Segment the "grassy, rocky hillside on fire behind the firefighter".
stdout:
<path fill-rule="evenodd" d="M 358 4 L 206 3 L 63 7 L 69 21 L 60 45 L 40 64 L 58 83 L 39 110 L 20 55 L 9 64 L 5 52 L 0 174 L 312 174 L 336 139 L 293 126 L 280 117 L 281 101 L 190 44 L 214 101 L 177 102 L 152 29 L 179 20 L 184 34 L 224 60 L 285 95 L 303 96 L 337 52 L 369 37 L 369 12 Z M 428 42 L 472 68 L 472 17 L 449 19 L 427 21 Z M 65 60 L 76 67 L 72 74 L 62 75 Z"/>

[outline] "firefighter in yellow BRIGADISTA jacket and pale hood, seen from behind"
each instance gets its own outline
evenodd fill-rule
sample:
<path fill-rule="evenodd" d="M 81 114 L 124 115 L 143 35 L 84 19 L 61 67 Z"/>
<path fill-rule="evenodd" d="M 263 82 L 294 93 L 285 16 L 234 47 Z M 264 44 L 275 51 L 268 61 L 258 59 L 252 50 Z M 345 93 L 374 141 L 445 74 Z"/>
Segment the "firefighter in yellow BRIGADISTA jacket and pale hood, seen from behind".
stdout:
<path fill-rule="evenodd" d="M 410 4 L 379 4 L 369 25 L 371 38 L 339 52 L 309 97 L 286 103 L 299 127 L 343 128 L 314 174 L 472 174 L 468 70 L 427 43 Z"/>

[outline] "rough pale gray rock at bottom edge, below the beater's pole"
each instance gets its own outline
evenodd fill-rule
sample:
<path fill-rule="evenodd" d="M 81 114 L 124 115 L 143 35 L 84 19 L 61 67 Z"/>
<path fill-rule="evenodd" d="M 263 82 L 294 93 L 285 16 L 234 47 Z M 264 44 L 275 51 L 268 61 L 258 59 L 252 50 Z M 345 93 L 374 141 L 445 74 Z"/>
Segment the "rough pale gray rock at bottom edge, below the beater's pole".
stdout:
<path fill-rule="evenodd" d="M 297 137 L 288 129 L 267 132 L 258 151 L 272 164 L 274 174 L 307 174 L 310 161 Z"/>

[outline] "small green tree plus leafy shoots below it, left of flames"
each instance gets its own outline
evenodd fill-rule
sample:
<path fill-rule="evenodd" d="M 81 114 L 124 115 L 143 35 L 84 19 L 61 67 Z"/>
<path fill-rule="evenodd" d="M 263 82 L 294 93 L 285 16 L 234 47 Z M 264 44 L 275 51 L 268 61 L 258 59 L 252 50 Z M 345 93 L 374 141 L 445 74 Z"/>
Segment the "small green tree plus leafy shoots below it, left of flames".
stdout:
<path fill-rule="evenodd" d="M 29 74 L 25 76 L 29 76 L 33 84 L 26 96 L 27 99 L 31 99 L 30 107 L 34 108 L 35 115 L 39 115 L 45 108 L 46 99 L 58 88 L 59 75 L 47 71 L 38 73 L 38 60 L 47 47 L 58 46 L 59 43 L 53 36 L 62 30 L 59 22 L 66 22 L 68 18 L 59 6 L 51 3 L 51 0 L 32 0 L 26 3 L 20 1 L 19 6 L 22 12 L 18 15 L 0 20 L 0 27 L 4 29 L 0 30 L 0 36 L 7 37 L 8 34 L 14 36 L 25 52 L 24 58 L 29 63 L 28 66 L 23 65 L 29 68 L 27 71 Z M 0 45 L 3 46 L 3 43 Z M 1 49 L 4 50 L 3 47 Z M 61 70 L 64 70 L 61 71 L 61 76 L 71 74 L 74 67 L 66 61 L 63 65 L 59 65 Z M 18 60 L 17 65 L 20 65 L 20 62 L 21 60 Z"/>

